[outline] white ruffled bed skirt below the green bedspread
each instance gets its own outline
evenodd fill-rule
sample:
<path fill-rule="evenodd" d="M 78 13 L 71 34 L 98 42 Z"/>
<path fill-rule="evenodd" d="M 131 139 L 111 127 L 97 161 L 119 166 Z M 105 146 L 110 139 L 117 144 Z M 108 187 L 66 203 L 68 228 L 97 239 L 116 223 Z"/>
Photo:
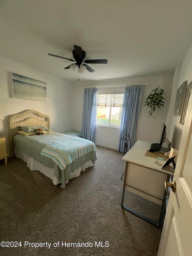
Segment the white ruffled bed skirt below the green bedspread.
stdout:
<path fill-rule="evenodd" d="M 43 164 L 38 163 L 34 158 L 28 156 L 26 153 L 23 153 L 20 151 L 20 149 L 14 147 L 15 156 L 17 158 L 21 158 L 24 162 L 27 163 L 27 167 L 30 168 L 30 170 L 38 170 L 41 173 L 43 173 L 45 176 L 52 179 L 52 182 L 54 185 L 59 184 L 59 180 L 54 176 L 54 169 L 45 167 Z M 78 177 L 81 174 L 81 171 L 85 171 L 86 168 L 93 165 L 93 162 L 89 160 L 85 164 L 83 164 L 82 167 L 79 167 L 74 172 L 71 172 L 71 179 Z M 69 180 L 67 180 L 65 183 L 68 183 Z"/>

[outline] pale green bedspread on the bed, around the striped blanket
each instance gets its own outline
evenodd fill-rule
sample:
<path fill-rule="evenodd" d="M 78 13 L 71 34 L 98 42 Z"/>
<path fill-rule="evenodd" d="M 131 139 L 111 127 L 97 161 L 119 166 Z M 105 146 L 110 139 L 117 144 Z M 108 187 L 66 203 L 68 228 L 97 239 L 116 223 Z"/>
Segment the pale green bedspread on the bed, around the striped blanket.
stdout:
<path fill-rule="evenodd" d="M 91 160 L 93 164 L 95 164 L 95 161 L 97 160 L 96 152 L 91 151 L 80 156 L 79 158 L 76 158 L 70 164 L 68 164 L 64 170 L 61 170 L 51 158 L 41 155 L 41 151 L 42 149 L 44 149 L 44 147 L 62 140 L 69 141 L 69 139 L 71 138 L 73 138 L 74 143 L 76 138 L 81 139 L 79 137 L 71 137 L 69 135 L 57 132 L 50 132 L 43 135 L 31 136 L 17 134 L 13 138 L 13 145 L 16 148 L 19 148 L 22 152 L 34 158 L 39 163 L 43 164 L 45 167 L 54 168 L 54 176 L 59 180 L 60 183 L 62 183 L 61 188 L 65 188 L 65 182 L 68 179 L 71 179 L 71 172 L 73 172 L 89 160 Z"/>

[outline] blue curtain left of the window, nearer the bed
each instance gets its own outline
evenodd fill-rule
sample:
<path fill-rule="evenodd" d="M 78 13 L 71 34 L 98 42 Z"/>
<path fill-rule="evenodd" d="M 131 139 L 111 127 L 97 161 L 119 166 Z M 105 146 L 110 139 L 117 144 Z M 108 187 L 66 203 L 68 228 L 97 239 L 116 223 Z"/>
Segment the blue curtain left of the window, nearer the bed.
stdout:
<path fill-rule="evenodd" d="M 95 143 L 97 88 L 85 88 L 83 97 L 82 137 Z"/>

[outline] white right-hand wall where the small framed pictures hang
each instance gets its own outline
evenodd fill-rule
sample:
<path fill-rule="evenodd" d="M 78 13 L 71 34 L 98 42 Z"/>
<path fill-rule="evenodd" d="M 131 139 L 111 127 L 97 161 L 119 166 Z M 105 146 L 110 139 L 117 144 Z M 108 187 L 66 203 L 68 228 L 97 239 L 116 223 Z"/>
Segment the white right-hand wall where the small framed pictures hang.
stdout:
<path fill-rule="evenodd" d="M 181 72 L 179 76 L 179 81 L 177 83 L 177 87 L 175 89 L 174 93 L 174 101 L 172 103 L 172 106 L 170 106 L 173 110 L 175 106 L 175 101 L 176 101 L 176 93 L 177 89 L 182 85 L 184 81 L 187 80 L 187 85 L 192 81 L 192 46 L 190 47 L 181 67 Z M 175 73 L 175 77 L 178 76 L 177 73 Z M 178 80 L 178 79 L 176 79 Z M 173 94 L 172 93 L 172 94 Z M 173 115 L 173 111 L 172 111 Z M 179 123 L 180 121 L 180 116 L 173 116 L 172 122 L 171 122 L 171 127 L 170 127 L 170 141 L 172 142 L 172 147 L 175 149 L 179 149 L 180 145 L 180 140 L 182 136 L 182 131 L 183 131 L 183 125 Z"/>

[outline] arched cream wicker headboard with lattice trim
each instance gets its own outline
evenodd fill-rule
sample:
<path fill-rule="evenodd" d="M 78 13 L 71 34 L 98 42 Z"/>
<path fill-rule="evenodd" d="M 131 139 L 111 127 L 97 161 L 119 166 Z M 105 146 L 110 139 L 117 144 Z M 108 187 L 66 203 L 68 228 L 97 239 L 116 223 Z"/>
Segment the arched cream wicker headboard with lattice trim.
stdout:
<path fill-rule="evenodd" d="M 13 114 L 8 118 L 8 129 L 9 129 L 9 146 L 10 156 L 14 156 L 13 137 L 19 131 L 19 126 L 46 126 L 50 129 L 49 116 L 44 115 L 36 110 L 25 110 L 18 114 Z"/>

